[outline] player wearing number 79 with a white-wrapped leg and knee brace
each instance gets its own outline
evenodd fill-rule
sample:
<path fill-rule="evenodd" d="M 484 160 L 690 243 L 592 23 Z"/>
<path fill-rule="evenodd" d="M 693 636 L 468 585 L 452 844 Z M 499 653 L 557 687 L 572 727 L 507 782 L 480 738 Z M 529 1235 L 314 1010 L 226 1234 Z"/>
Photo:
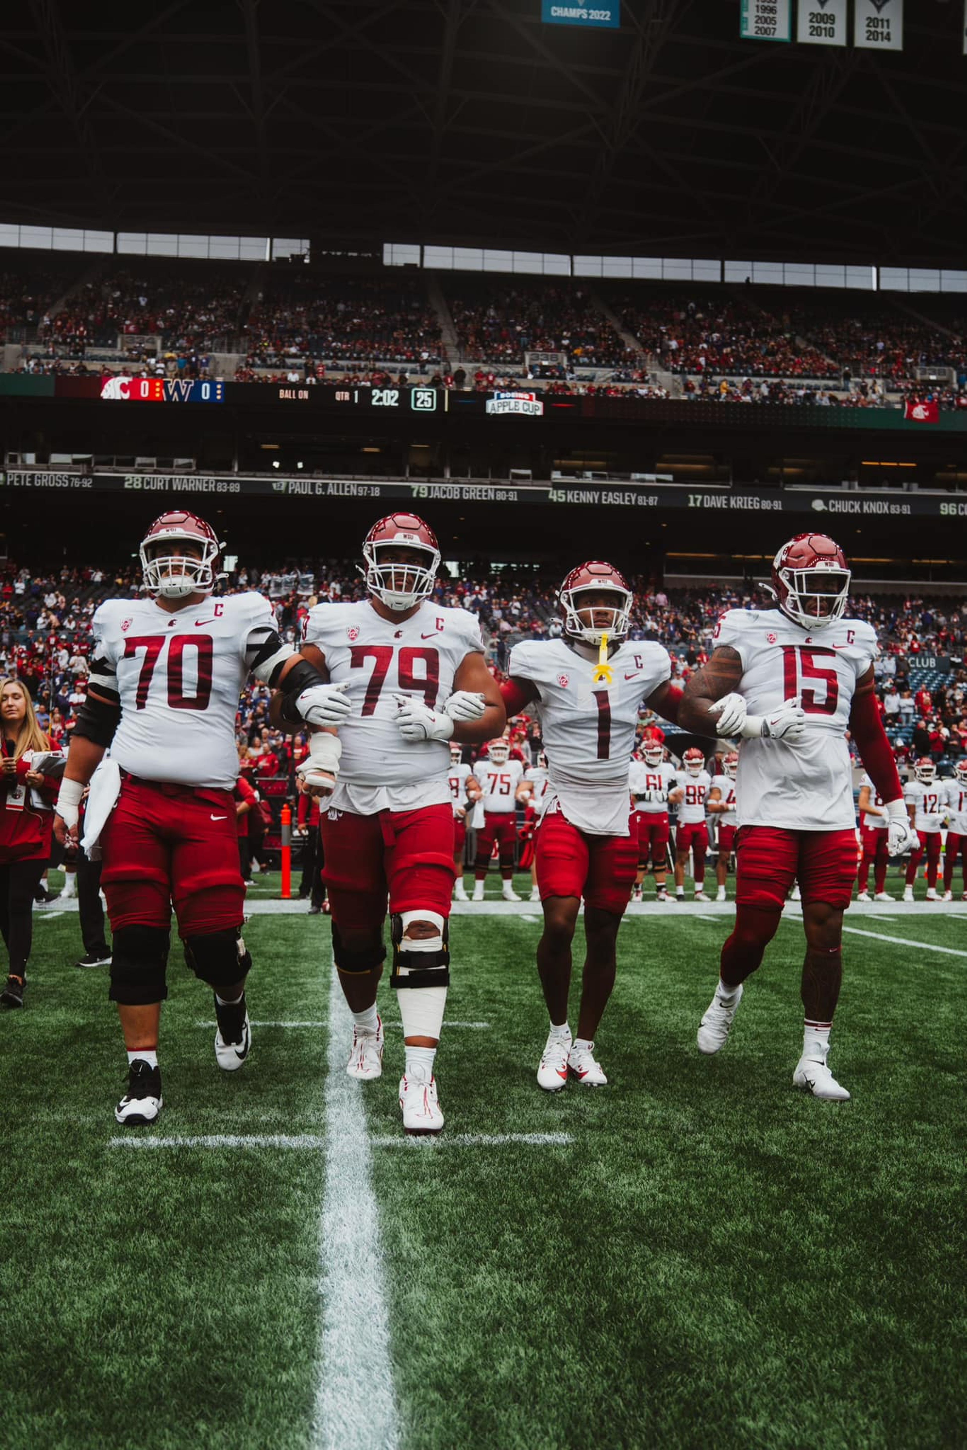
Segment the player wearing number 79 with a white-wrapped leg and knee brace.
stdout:
<path fill-rule="evenodd" d="M 439 548 L 429 525 L 413 513 L 389 515 L 367 534 L 362 558 L 368 599 L 316 605 L 302 647 L 345 687 L 352 708 L 338 741 L 315 734 L 310 742 L 342 751 L 320 825 L 333 957 L 354 1022 L 346 1072 L 373 1079 L 383 1070 L 375 998 L 389 892 L 390 986 L 406 1053 L 403 1128 L 439 1132 L 433 1060 L 449 983 L 454 889 L 449 744 L 491 740 L 506 716 L 476 615 L 431 599 Z M 309 784 L 316 789 L 312 776 Z"/>

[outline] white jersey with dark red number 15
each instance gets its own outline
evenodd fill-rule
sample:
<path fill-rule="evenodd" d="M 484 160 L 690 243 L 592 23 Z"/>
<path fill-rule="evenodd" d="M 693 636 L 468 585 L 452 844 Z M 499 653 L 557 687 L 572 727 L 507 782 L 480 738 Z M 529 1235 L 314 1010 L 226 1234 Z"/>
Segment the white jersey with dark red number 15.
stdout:
<path fill-rule="evenodd" d="M 852 768 L 845 732 L 857 680 L 877 654 L 873 625 L 837 619 L 809 632 L 779 609 L 729 609 L 715 644 L 742 660 L 738 686 L 751 715 L 797 695 L 806 734 L 796 744 L 744 740 L 736 777 L 739 825 L 852 831 Z"/>

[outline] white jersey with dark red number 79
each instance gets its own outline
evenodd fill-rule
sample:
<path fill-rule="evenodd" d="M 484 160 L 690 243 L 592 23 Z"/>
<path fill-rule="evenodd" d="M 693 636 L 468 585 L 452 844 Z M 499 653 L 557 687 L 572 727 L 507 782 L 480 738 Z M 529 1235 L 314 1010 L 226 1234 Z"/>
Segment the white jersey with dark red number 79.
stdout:
<path fill-rule="evenodd" d="M 315 605 L 303 642 L 326 658 L 329 679 L 348 683 L 352 715 L 339 726 L 342 757 L 333 809 L 368 815 L 449 800 L 449 744 L 406 741 L 396 726 L 396 695 L 441 709 L 468 654 L 483 652 L 480 625 L 465 609 L 423 600 L 409 619 L 384 619 L 368 599 Z"/>

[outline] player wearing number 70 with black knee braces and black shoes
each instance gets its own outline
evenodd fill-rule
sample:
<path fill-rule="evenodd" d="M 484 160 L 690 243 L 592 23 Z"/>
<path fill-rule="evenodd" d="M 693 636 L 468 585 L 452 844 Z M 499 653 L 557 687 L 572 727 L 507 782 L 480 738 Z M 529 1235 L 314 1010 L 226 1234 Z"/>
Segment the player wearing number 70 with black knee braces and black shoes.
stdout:
<path fill-rule="evenodd" d="M 267 599 L 210 597 L 220 548 L 203 519 L 178 509 L 145 534 L 148 597 L 109 599 L 94 613 L 90 687 L 57 805 L 58 840 L 75 842 L 84 787 L 110 747 L 87 800 L 84 845 L 99 845 L 104 863 L 115 935 L 110 999 L 129 1063 L 115 1116 L 125 1125 L 152 1122 L 162 1105 L 158 1028 L 173 905 L 186 961 L 215 992 L 217 1064 L 232 1072 L 248 1057 L 252 961 L 242 941 L 232 798 L 242 684 L 251 673 L 284 687 L 300 725 L 348 713 L 339 692 L 281 642 Z"/>

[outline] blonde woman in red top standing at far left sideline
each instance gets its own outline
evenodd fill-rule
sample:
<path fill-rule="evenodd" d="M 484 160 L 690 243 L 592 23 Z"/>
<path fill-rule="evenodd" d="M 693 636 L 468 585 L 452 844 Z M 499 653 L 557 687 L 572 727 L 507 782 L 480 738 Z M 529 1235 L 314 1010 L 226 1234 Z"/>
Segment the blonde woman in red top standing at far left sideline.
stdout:
<path fill-rule="evenodd" d="M 0 932 L 10 958 L 0 1006 L 23 1006 L 23 977 L 33 932 L 33 893 L 51 854 L 59 782 L 32 770 L 51 744 L 20 680 L 0 680 Z"/>

